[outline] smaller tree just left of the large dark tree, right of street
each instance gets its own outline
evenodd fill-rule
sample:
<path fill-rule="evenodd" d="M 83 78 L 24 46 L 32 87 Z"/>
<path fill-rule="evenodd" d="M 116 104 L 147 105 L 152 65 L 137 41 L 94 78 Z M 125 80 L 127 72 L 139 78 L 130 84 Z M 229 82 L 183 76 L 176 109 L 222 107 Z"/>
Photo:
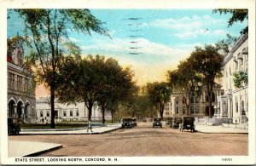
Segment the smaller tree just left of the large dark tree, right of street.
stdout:
<path fill-rule="evenodd" d="M 189 116 L 191 97 L 195 94 L 201 94 L 201 76 L 193 70 L 189 60 L 181 61 L 177 66 L 177 70 L 168 71 L 168 76 L 172 88 L 183 94 L 183 100 L 185 100 L 186 105 L 185 114 Z"/>

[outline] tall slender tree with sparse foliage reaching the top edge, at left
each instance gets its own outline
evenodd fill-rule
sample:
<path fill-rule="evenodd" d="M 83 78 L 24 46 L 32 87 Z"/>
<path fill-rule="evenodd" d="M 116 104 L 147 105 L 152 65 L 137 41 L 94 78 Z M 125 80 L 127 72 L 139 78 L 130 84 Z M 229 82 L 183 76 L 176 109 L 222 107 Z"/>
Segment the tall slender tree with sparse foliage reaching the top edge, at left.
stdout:
<path fill-rule="evenodd" d="M 65 54 L 63 45 L 68 39 L 67 29 L 89 34 L 90 31 L 108 35 L 88 9 L 15 9 L 24 20 L 27 44 L 35 49 L 30 59 L 36 63 L 39 80 L 50 90 L 50 127 L 55 128 L 55 89 L 58 63 Z"/>

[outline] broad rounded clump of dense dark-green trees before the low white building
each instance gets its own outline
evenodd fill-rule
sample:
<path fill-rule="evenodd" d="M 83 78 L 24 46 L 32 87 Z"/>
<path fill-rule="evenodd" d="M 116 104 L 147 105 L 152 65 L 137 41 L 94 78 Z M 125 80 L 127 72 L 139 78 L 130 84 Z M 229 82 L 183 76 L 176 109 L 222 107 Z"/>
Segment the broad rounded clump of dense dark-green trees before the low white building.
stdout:
<path fill-rule="evenodd" d="M 134 92 L 130 69 L 123 69 L 117 60 L 105 60 L 101 55 L 89 55 L 84 59 L 68 56 L 62 63 L 56 95 L 64 103 L 84 101 L 89 110 L 88 119 L 92 107 L 97 104 L 102 109 L 104 123 L 105 111 L 113 116 L 119 101 L 126 100 Z"/>

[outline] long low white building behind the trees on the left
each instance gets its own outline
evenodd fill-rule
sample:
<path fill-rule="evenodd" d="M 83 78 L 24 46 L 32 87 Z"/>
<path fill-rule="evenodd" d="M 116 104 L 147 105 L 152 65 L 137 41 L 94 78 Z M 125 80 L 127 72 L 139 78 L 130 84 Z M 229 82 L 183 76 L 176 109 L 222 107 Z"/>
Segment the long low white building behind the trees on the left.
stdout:
<path fill-rule="evenodd" d="M 37 123 L 50 122 L 50 102 L 49 96 L 37 97 Z M 92 108 L 92 120 L 102 120 L 102 112 L 98 106 Z M 111 115 L 105 113 L 105 119 L 111 119 Z M 79 102 L 76 105 L 61 104 L 55 100 L 55 121 L 85 121 L 88 120 L 88 109 L 84 106 L 84 102 Z"/>

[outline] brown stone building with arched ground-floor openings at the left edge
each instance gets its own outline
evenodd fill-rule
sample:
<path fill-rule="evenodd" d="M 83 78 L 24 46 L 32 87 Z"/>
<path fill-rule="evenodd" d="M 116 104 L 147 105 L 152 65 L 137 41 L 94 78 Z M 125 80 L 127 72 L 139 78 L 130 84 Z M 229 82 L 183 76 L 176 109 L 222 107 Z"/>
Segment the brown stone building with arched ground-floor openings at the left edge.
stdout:
<path fill-rule="evenodd" d="M 24 67 L 24 50 L 21 42 L 7 55 L 8 117 L 18 117 L 23 123 L 36 119 L 36 100 L 32 72 Z"/>

